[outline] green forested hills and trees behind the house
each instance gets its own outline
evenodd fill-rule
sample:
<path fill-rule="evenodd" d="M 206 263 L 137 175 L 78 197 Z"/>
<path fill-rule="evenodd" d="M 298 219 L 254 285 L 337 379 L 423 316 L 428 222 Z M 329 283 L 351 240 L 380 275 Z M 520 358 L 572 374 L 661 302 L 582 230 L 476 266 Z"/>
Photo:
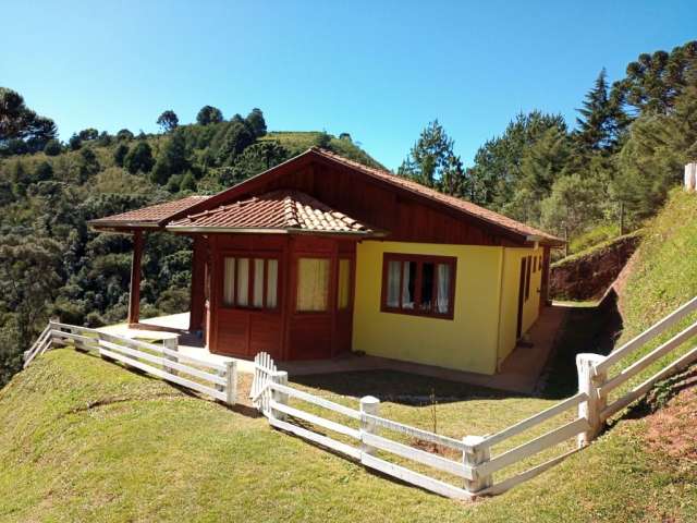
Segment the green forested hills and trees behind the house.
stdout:
<path fill-rule="evenodd" d="M 50 118 L 0 87 L 0 386 L 49 317 L 90 327 L 125 318 L 131 240 L 90 231 L 88 220 L 211 194 L 310 146 L 381 167 L 348 133 L 269 132 L 258 108 L 225 119 L 204 106 L 191 124 L 166 110 L 157 123 L 156 134 L 85 129 L 61 142 Z M 638 56 L 612 83 L 600 70 L 575 122 L 514 115 L 470 167 L 435 120 L 395 175 L 554 232 L 577 251 L 640 228 L 695 158 L 690 41 Z M 186 238 L 147 235 L 143 317 L 187 309 L 189 265 Z"/>

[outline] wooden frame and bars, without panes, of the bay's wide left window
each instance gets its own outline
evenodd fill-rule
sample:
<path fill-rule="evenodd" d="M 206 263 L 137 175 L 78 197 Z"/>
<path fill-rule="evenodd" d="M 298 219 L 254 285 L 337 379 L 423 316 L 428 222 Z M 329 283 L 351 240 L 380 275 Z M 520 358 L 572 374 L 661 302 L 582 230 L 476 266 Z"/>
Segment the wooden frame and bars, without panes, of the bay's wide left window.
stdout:
<path fill-rule="evenodd" d="M 232 289 L 232 304 L 227 304 L 224 300 L 224 285 L 225 285 L 225 258 L 235 259 L 234 269 L 234 284 Z M 247 258 L 248 262 L 248 283 L 247 283 L 247 305 L 237 304 L 237 270 L 241 258 Z M 264 285 L 262 285 L 262 306 L 254 306 L 254 281 L 256 277 L 255 262 L 257 259 L 264 260 Z M 276 260 L 277 273 L 276 273 L 276 306 L 269 307 L 267 301 L 268 293 L 268 278 L 269 278 L 269 260 Z M 281 254 L 279 253 L 248 253 L 248 252 L 223 252 L 220 255 L 220 284 L 217 285 L 220 292 L 220 308 L 225 311 L 246 311 L 255 313 L 280 313 L 281 312 Z"/>

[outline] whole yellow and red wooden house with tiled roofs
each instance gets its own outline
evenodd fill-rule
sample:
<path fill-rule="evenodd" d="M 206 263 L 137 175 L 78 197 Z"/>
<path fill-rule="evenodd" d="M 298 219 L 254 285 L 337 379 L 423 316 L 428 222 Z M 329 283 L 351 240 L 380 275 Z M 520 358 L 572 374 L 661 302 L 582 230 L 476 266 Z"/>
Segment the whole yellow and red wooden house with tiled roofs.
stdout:
<path fill-rule="evenodd" d="M 547 302 L 552 235 L 311 148 L 213 196 L 97 219 L 193 238 L 191 330 L 213 353 L 347 351 L 493 374 Z"/>

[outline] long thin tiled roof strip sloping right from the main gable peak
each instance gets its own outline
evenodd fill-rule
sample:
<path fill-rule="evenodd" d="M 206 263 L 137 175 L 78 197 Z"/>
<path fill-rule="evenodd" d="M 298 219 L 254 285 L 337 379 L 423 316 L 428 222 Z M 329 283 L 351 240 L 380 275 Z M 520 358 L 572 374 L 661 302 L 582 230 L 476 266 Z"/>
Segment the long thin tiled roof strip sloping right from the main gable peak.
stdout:
<path fill-rule="evenodd" d="M 310 150 L 327 159 L 342 163 L 352 169 L 359 170 L 368 174 L 369 177 L 386 181 L 388 183 L 391 183 L 394 186 L 405 188 L 412 193 L 419 194 L 429 199 L 432 199 L 440 204 L 444 204 L 449 207 L 452 207 L 456 210 L 464 211 L 467 215 L 474 216 L 489 223 L 493 223 L 493 224 L 503 227 L 505 229 L 512 230 L 514 232 L 517 232 L 518 234 L 523 234 L 526 236 L 539 236 L 539 239 L 547 240 L 552 243 L 559 243 L 559 244 L 564 243 L 563 240 L 557 236 L 553 236 L 545 231 L 540 231 L 539 229 L 535 229 L 534 227 L 527 226 L 525 223 L 521 223 L 519 221 L 516 221 L 512 218 L 494 212 L 493 210 L 479 207 L 478 205 L 475 205 L 472 202 L 467 202 L 465 199 L 460 199 L 454 196 L 449 196 L 447 194 L 439 193 L 436 190 L 429 188 L 412 180 L 398 177 L 389 171 L 366 167 L 363 163 L 358 163 L 357 161 L 350 160 L 347 158 L 344 158 L 343 156 L 339 156 L 327 149 L 320 149 L 318 147 L 314 147 Z"/>

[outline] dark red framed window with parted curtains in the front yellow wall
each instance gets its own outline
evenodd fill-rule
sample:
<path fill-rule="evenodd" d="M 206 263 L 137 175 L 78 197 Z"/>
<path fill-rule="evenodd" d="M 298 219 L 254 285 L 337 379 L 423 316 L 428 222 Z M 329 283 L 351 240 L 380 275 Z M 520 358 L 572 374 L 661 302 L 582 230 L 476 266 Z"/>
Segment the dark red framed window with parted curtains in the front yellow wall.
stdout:
<path fill-rule="evenodd" d="M 455 258 L 386 253 L 382 311 L 453 317 Z"/>

